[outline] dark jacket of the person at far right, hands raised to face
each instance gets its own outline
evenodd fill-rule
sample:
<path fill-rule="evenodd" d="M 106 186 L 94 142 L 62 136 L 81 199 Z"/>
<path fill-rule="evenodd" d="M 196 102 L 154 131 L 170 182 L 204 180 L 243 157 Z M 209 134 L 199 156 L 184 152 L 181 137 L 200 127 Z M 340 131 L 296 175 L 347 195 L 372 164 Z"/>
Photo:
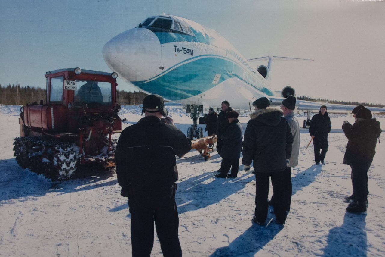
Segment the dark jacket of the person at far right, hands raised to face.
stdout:
<path fill-rule="evenodd" d="M 355 164 L 362 162 L 372 162 L 375 155 L 377 139 L 382 132 L 380 122 L 375 118 L 361 120 L 353 125 L 344 123 L 342 130 L 348 138 L 343 163 Z"/>

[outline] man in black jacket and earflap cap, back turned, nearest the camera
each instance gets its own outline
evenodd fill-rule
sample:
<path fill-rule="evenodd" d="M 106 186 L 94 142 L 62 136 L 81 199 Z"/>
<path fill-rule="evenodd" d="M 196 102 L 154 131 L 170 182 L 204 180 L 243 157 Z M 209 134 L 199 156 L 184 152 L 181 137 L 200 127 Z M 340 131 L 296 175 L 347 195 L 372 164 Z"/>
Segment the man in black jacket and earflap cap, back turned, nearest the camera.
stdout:
<path fill-rule="evenodd" d="M 123 130 L 115 152 L 116 174 L 131 213 L 132 256 L 150 256 L 156 232 L 164 256 L 182 256 L 175 203 L 176 156 L 191 149 L 191 141 L 172 124 L 164 100 L 148 95 L 138 123 Z M 166 119 L 161 119 L 162 115 Z"/>

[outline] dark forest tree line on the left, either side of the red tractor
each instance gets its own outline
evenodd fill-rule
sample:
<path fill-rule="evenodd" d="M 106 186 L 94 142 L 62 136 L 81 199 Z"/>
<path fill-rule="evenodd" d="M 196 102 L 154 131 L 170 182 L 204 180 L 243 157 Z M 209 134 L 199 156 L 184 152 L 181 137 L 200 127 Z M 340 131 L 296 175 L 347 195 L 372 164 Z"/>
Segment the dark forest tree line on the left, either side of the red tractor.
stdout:
<path fill-rule="evenodd" d="M 21 87 L 20 85 L 2 86 L 0 84 L 0 104 L 2 105 L 25 105 L 29 103 L 46 102 L 47 90 L 45 88 Z M 146 93 L 141 91 L 127 92 L 117 90 L 117 103 L 120 105 L 139 105 L 143 103 Z"/>

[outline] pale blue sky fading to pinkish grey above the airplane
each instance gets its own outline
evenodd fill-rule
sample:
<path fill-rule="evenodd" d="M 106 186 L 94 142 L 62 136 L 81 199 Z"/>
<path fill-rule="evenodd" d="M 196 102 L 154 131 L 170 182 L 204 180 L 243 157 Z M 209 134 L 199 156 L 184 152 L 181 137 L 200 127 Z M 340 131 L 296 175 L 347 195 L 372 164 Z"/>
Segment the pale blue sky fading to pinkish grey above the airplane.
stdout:
<path fill-rule="evenodd" d="M 0 84 L 45 87 L 45 72 L 60 68 L 109 72 L 104 44 L 162 12 L 215 29 L 248 59 L 315 60 L 275 61 L 274 90 L 385 104 L 384 1 L 2 0 Z"/>

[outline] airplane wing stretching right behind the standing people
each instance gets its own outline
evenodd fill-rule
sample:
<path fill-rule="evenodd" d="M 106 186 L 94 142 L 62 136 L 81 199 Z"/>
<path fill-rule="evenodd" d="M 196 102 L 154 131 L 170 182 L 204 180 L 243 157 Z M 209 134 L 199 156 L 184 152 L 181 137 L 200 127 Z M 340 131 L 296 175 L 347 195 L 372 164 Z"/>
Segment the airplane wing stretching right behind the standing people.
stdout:
<path fill-rule="evenodd" d="M 272 101 L 271 105 L 281 105 L 283 97 L 268 96 Z M 338 111 L 352 111 L 356 105 L 342 105 L 337 103 L 322 103 L 322 102 L 313 102 L 298 100 L 296 101 L 295 108 L 297 110 L 320 110 L 321 105 L 326 105 L 328 110 L 338 110 Z M 385 107 L 366 107 L 372 112 L 385 112 Z"/>

